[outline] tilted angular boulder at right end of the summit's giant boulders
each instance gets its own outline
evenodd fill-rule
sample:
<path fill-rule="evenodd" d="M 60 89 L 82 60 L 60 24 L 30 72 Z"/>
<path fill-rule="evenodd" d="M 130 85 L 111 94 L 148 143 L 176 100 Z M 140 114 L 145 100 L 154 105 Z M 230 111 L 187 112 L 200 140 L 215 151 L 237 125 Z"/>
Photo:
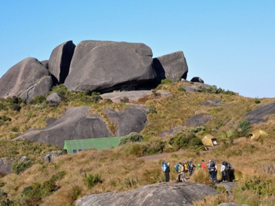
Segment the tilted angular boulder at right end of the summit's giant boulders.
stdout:
<path fill-rule="evenodd" d="M 153 58 L 153 67 L 157 75 L 157 81 L 160 82 L 168 78 L 175 82 L 181 78 L 187 78 L 188 66 L 184 52 L 174 52 Z"/>

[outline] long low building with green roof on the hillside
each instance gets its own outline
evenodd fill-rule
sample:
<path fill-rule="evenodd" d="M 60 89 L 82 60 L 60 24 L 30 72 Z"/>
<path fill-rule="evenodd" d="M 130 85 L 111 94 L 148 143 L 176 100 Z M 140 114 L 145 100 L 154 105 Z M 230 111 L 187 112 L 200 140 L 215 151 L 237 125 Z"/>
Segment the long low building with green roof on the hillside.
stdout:
<path fill-rule="evenodd" d="M 121 137 L 102 137 L 94 139 L 65 140 L 63 150 L 67 151 L 67 154 L 72 155 L 76 152 L 92 148 L 96 148 L 97 150 L 115 148 L 118 146 L 120 138 Z"/>

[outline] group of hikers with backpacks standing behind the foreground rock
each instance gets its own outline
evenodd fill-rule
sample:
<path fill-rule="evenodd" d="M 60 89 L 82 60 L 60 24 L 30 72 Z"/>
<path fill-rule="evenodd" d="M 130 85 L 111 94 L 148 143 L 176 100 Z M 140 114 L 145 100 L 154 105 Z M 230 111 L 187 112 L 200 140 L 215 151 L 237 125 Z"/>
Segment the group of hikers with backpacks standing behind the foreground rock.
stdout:
<path fill-rule="evenodd" d="M 195 165 L 192 161 L 183 161 L 183 163 L 176 163 L 174 166 L 177 171 L 177 182 L 186 182 L 186 174 L 189 173 L 191 176 L 194 174 Z M 207 169 L 209 172 L 210 179 L 213 183 L 219 183 L 217 180 L 217 165 L 215 161 L 209 159 L 208 163 L 205 164 L 204 160 L 201 160 L 197 165 L 198 169 Z M 230 170 L 232 169 L 232 165 L 230 162 L 223 161 L 221 162 L 221 181 L 223 183 L 230 181 Z M 162 171 L 165 174 L 165 181 L 170 181 L 170 163 L 166 163 L 166 161 L 162 162 Z"/>

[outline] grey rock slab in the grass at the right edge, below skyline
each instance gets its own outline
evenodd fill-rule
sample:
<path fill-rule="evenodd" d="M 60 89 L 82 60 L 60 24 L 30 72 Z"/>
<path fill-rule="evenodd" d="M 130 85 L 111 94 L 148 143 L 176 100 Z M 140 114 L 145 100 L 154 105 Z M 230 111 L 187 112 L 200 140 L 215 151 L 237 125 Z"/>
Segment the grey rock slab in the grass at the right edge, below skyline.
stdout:
<path fill-rule="evenodd" d="M 248 120 L 250 124 L 261 124 L 270 119 L 269 117 L 266 117 L 266 115 L 273 114 L 275 114 L 275 102 L 259 106 L 258 108 L 246 113 L 243 118 Z"/>

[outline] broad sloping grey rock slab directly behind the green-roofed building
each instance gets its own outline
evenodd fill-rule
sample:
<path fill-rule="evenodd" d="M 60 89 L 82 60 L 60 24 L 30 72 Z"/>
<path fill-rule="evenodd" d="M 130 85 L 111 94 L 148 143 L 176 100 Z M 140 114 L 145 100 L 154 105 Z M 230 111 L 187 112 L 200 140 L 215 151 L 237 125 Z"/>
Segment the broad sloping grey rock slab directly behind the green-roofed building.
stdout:
<path fill-rule="evenodd" d="M 15 139 L 30 139 L 43 143 L 51 143 L 63 147 L 65 140 L 113 137 L 111 131 L 98 115 L 89 114 L 89 106 L 67 108 L 60 119 L 46 119 L 45 128 L 30 129 Z M 117 130 L 115 136 L 140 133 L 146 122 L 146 108 L 124 108 L 121 112 L 104 110 Z"/>

